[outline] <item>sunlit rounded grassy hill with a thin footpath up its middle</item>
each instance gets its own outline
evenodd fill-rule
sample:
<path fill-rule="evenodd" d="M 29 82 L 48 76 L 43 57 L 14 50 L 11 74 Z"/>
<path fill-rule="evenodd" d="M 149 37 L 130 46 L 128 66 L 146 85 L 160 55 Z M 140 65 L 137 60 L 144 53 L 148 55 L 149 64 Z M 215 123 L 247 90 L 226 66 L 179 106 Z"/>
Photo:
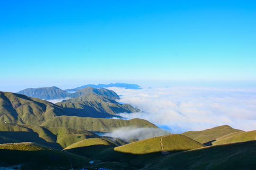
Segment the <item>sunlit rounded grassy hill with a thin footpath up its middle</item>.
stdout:
<path fill-rule="evenodd" d="M 199 147 L 204 147 L 204 145 L 190 139 L 187 136 L 176 134 L 158 136 L 133 142 L 130 144 L 116 147 L 114 151 L 132 154 L 146 154 L 162 151 L 178 152 Z"/>

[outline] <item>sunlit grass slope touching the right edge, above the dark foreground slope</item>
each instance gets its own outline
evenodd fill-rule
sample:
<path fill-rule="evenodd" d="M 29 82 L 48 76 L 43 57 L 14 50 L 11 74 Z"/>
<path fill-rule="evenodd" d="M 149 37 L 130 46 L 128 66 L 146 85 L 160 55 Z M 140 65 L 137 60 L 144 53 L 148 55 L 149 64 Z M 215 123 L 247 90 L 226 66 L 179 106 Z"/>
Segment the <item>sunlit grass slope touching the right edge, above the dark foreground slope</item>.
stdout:
<path fill-rule="evenodd" d="M 256 140 L 256 130 L 249 132 L 235 132 L 226 136 L 222 136 L 216 139 L 212 144 L 227 144 L 234 142 L 246 142 L 250 140 Z"/>

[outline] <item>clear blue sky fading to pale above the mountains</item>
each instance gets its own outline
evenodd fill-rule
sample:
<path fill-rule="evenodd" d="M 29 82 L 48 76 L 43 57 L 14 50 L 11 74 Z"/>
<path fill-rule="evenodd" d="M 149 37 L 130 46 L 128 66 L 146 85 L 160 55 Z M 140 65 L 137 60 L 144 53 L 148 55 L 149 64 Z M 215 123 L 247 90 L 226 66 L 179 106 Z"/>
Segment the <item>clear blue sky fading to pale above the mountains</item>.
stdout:
<path fill-rule="evenodd" d="M 254 84 L 256 1 L 0 0 L 0 91 L 156 81 Z"/>

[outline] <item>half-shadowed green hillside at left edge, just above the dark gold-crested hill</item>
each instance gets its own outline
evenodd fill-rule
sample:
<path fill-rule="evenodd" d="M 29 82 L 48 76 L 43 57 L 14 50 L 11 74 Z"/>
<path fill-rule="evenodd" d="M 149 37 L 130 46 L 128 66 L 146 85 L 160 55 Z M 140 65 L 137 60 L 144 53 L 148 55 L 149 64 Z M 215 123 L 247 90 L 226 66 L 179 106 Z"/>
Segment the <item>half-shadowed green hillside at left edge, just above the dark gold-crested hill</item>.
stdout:
<path fill-rule="evenodd" d="M 3 136 L 2 143 L 8 143 L 8 140 L 36 142 L 56 149 L 63 149 L 70 144 L 87 138 L 98 137 L 96 134 L 87 130 L 76 130 L 67 127 L 38 127 L 32 125 L 5 123 L 0 124 L 0 136 Z"/>

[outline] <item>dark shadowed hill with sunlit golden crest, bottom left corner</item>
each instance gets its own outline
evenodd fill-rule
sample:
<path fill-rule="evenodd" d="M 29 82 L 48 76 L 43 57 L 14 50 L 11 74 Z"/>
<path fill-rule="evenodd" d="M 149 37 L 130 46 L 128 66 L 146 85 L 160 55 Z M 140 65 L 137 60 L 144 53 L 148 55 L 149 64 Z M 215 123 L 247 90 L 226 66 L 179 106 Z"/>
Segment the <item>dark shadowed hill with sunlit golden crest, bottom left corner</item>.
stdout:
<path fill-rule="evenodd" d="M 65 153 L 35 143 L 0 144 L 0 169 L 21 166 L 25 170 L 68 170 L 89 166 L 84 157 Z"/>

